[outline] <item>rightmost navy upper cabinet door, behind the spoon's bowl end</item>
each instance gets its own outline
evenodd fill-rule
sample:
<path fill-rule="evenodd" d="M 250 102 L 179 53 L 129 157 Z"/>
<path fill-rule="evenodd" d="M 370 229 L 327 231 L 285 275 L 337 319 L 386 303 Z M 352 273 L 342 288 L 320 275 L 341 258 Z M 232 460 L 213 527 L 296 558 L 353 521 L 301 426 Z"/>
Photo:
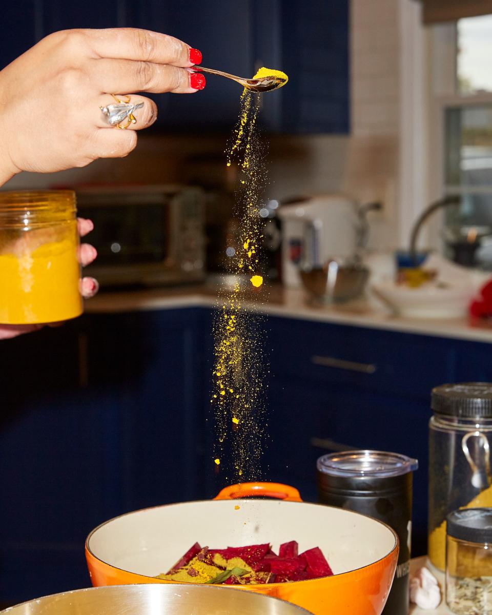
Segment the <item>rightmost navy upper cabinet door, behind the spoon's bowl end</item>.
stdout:
<path fill-rule="evenodd" d="M 289 77 L 262 97 L 267 129 L 287 133 L 349 132 L 349 2 L 254 3 L 255 63 Z"/>

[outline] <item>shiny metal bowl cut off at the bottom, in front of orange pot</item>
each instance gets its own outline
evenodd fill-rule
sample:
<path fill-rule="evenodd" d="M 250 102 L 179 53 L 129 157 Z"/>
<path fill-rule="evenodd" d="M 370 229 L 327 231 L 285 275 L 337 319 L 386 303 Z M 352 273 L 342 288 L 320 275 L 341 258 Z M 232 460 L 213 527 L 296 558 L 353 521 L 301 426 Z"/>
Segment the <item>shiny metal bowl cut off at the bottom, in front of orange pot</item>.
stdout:
<path fill-rule="evenodd" d="M 9 615 L 309 615 L 260 593 L 212 585 L 110 585 L 24 602 Z"/>

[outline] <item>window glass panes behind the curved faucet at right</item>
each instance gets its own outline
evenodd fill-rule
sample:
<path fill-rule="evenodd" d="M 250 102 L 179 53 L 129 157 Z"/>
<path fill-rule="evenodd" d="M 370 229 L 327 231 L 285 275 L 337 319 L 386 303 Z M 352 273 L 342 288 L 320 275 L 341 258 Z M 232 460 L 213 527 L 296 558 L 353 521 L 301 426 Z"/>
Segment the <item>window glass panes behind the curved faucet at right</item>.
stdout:
<path fill-rule="evenodd" d="M 492 269 L 492 15 L 432 26 L 435 166 L 445 213 L 446 253 Z"/>

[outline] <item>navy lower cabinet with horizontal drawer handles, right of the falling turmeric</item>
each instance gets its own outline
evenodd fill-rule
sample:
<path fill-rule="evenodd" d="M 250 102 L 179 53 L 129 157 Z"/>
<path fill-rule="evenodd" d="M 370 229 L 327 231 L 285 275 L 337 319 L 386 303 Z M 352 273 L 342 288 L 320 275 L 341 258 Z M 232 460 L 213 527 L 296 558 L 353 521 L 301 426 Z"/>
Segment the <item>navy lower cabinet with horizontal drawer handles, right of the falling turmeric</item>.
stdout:
<path fill-rule="evenodd" d="M 267 328 L 266 477 L 316 501 L 322 454 L 372 448 L 416 458 L 413 554 L 426 553 L 431 389 L 492 381 L 492 345 L 277 317 Z"/>

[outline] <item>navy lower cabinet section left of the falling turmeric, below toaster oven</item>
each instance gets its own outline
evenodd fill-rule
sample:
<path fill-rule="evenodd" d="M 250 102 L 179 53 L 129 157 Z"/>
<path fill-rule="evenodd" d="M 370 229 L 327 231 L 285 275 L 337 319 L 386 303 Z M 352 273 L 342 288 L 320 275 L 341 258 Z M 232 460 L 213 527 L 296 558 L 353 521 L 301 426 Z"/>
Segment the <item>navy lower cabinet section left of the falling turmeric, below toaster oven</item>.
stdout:
<path fill-rule="evenodd" d="M 204 497 L 203 318 L 85 315 L 2 342 L 0 603 L 89 585 L 106 519 Z"/>

